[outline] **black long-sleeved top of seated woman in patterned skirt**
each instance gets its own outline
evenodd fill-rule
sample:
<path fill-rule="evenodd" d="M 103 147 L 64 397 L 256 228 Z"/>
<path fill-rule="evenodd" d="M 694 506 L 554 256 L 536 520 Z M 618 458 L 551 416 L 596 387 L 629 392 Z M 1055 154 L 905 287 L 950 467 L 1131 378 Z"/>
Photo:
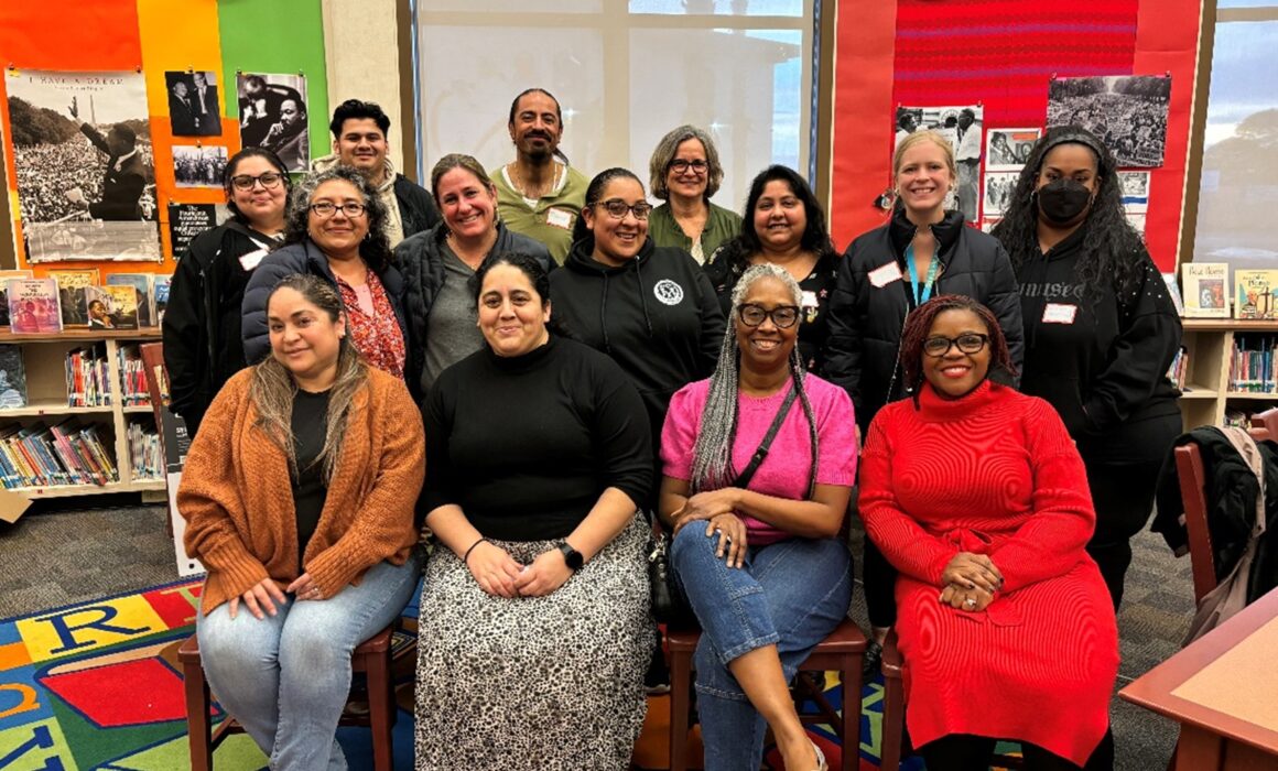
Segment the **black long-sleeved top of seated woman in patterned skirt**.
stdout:
<path fill-rule="evenodd" d="M 643 401 L 608 359 L 551 336 L 520 357 L 484 347 L 445 370 L 422 409 L 419 517 L 455 504 L 502 541 L 569 536 L 616 487 L 639 505 L 653 486 Z"/>

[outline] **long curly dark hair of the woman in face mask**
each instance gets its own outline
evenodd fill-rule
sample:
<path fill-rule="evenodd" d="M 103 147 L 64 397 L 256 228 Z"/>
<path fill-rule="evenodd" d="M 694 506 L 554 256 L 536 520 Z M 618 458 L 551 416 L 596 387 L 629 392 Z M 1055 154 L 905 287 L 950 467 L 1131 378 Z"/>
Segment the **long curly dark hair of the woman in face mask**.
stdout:
<path fill-rule="evenodd" d="M 1026 262 L 1038 256 L 1038 194 L 1035 184 L 1043 170 L 1043 160 L 1053 148 L 1082 144 L 1097 159 L 1098 188 L 1091 210 L 1082 222 L 1082 254 L 1077 262 L 1079 279 L 1085 290 L 1097 297 L 1105 292 L 1125 294 L 1132 292 L 1143 279 L 1140 257 L 1145 243 L 1140 233 L 1127 221 L 1122 208 L 1122 187 L 1118 183 L 1116 161 L 1109 150 L 1091 132 L 1077 125 L 1053 127 L 1043 134 L 1016 180 L 1011 203 L 992 235 L 1002 242 L 1012 258 L 1017 277 Z"/>

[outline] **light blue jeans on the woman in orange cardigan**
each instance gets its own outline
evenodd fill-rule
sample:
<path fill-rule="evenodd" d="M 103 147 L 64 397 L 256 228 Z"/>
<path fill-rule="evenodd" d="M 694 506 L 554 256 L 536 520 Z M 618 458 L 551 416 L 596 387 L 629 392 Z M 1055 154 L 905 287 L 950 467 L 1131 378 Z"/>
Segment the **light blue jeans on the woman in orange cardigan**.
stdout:
<path fill-rule="evenodd" d="M 343 770 L 337 720 L 350 694 L 350 653 L 390 624 L 420 577 L 414 555 L 400 566 L 373 565 L 359 586 L 298 602 L 293 595 L 262 620 L 240 604 L 197 615 L 208 687 L 262 752 L 271 768 Z"/>

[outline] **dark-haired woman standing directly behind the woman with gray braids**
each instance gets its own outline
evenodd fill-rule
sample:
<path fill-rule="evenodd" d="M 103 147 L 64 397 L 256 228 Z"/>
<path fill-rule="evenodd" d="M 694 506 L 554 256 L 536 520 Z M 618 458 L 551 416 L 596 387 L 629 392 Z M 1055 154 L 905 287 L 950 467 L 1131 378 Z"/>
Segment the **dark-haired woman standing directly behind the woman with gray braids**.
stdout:
<path fill-rule="evenodd" d="M 799 357 L 809 372 L 819 375 L 829 326 L 826 308 L 840 262 L 826 229 L 826 211 L 797 171 L 768 166 L 750 183 L 745 216 L 741 234 L 712 256 L 705 275 L 726 313 L 748 267 L 783 267 L 803 292 Z"/>

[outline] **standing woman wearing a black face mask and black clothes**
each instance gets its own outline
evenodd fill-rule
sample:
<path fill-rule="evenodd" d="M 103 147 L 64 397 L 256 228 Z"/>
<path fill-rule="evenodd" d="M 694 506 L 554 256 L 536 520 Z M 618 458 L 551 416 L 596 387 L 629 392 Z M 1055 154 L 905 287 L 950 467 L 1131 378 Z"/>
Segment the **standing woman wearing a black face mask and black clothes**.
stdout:
<path fill-rule="evenodd" d="M 1021 390 L 1047 399 L 1088 469 L 1097 529 L 1088 554 L 1114 610 L 1154 478 L 1181 432 L 1167 370 L 1181 320 L 1140 234 L 1127 222 L 1114 159 L 1086 129 L 1039 139 L 993 235 L 1021 286 Z"/>

